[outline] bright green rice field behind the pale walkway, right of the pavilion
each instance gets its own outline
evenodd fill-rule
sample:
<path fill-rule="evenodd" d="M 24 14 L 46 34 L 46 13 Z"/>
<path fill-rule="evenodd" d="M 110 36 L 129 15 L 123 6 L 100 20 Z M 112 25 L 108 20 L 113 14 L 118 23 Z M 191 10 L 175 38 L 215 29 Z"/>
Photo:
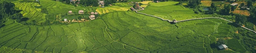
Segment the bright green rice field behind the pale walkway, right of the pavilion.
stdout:
<path fill-rule="evenodd" d="M 171 4 L 166 4 L 171 3 Z M 162 17 L 167 20 L 188 20 L 194 18 L 211 17 L 206 14 L 195 14 L 195 12 L 189 8 L 183 6 L 175 6 L 178 2 L 168 1 L 160 3 L 149 3 L 150 5 L 145 8 L 141 13 Z"/>

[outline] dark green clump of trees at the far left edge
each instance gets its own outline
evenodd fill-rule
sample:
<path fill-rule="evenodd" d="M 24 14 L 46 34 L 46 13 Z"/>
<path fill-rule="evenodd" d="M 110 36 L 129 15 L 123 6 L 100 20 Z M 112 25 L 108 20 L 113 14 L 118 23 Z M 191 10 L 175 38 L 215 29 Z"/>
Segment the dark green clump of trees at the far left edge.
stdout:
<path fill-rule="evenodd" d="M 4 26 L 3 23 L 8 19 L 16 20 L 17 22 L 21 22 L 22 14 L 20 11 L 15 10 L 15 4 L 9 2 L 0 3 L 0 27 Z"/>

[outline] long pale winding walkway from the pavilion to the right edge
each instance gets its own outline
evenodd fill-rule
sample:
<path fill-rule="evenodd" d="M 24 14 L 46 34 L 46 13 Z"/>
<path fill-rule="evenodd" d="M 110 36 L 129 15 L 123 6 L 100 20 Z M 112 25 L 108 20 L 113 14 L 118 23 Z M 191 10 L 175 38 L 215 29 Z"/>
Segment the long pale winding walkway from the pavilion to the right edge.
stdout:
<path fill-rule="evenodd" d="M 140 7 L 140 8 L 142 8 L 142 7 Z M 142 8 L 141 10 L 133 10 L 133 11 L 136 11 L 136 13 L 139 13 L 139 14 L 144 14 L 144 13 L 138 12 L 138 11 L 142 11 L 142 10 L 144 10 L 144 8 Z M 144 14 L 144 15 L 151 16 L 151 17 L 156 17 L 156 16 L 148 15 L 148 14 Z M 163 18 L 160 18 L 160 17 L 157 17 L 157 18 L 159 18 L 161 20 L 164 20 Z M 195 18 L 195 19 L 189 19 L 189 20 L 201 20 L 201 19 L 210 19 L 210 18 L 226 20 L 226 19 L 219 18 L 219 17 Z M 189 20 L 180 20 L 180 21 L 177 21 L 177 22 L 184 22 L 184 21 L 189 21 Z M 171 20 L 164 20 L 164 21 L 172 22 Z M 231 22 L 229 20 L 226 20 L 226 21 Z M 236 25 L 239 25 L 239 24 L 236 24 Z M 241 25 L 239 25 L 239 26 L 241 26 Z M 241 27 L 245 28 L 244 26 L 241 26 Z M 248 28 L 245 28 L 245 29 L 247 29 L 249 31 L 253 31 L 253 30 L 248 29 Z M 256 31 L 253 31 L 253 32 L 256 33 Z"/>

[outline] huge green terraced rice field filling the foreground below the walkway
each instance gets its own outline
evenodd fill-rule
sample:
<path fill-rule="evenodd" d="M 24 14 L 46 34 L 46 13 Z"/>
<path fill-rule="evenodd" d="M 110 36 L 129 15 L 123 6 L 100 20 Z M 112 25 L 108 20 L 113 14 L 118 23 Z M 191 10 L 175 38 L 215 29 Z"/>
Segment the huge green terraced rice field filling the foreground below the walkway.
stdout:
<path fill-rule="evenodd" d="M 215 48 L 210 45 L 221 36 L 211 35 L 233 32 L 228 31 L 233 27 L 224 20 L 170 24 L 134 11 L 111 12 L 97 20 L 70 25 L 27 26 L 13 20 L 4 24 L 0 28 L 1 53 L 212 53 L 223 51 L 212 50 Z"/>

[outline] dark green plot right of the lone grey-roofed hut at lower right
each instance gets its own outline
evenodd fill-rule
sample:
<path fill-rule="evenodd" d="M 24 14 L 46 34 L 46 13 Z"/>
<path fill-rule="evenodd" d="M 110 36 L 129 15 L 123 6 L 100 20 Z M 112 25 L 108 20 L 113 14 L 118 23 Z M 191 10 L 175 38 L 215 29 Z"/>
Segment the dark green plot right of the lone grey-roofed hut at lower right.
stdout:
<path fill-rule="evenodd" d="M 246 52 L 245 48 L 240 44 L 238 39 L 229 39 L 227 45 L 230 49 L 235 50 L 237 52 Z"/>

